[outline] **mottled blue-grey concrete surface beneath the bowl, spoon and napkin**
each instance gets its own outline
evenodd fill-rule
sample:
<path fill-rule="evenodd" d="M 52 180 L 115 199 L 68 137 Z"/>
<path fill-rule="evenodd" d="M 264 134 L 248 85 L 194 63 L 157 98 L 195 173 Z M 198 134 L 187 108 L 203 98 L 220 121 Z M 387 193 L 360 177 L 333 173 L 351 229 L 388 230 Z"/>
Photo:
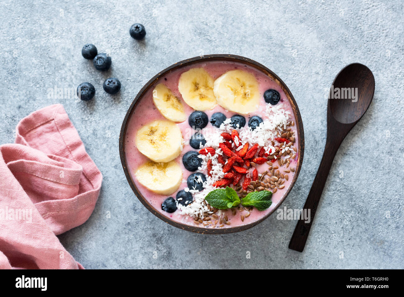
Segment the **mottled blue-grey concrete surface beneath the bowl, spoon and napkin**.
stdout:
<path fill-rule="evenodd" d="M 402 13 L 400 0 L 2 0 L 0 141 L 13 142 L 30 112 L 64 105 L 104 176 L 88 222 L 59 236 L 85 268 L 404 268 Z M 144 41 L 129 36 L 135 22 L 146 27 Z M 85 43 L 112 56 L 107 73 L 82 58 Z M 237 234 L 193 234 L 152 215 L 126 182 L 118 135 L 133 97 L 165 67 L 213 53 L 266 65 L 294 94 L 306 149 L 284 203 L 291 208 L 303 207 L 320 163 L 335 75 L 353 62 L 375 75 L 372 105 L 337 153 L 303 253 L 288 249 L 295 221 L 273 215 Z M 110 76 L 122 82 L 114 97 L 102 89 Z M 48 96 L 81 82 L 95 86 L 91 102 Z"/>

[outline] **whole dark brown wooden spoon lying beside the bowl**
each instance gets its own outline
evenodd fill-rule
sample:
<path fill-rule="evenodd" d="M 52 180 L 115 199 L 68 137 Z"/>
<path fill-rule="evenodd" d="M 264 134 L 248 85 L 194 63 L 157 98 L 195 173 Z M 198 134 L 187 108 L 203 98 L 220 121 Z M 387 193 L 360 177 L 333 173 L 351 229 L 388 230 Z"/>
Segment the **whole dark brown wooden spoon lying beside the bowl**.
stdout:
<path fill-rule="evenodd" d="M 349 88 L 351 96 L 345 88 Z M 365 65 L 349 64 L 335 77 L 328 96 L 326 147 L 303 207 L 303 209 L 310 209 L 310 222 L 305 223 L 305 220 L 297 222 L 290 239 L 289 249 L 303 251 L 335 154 L 345 136 L 368 109 L 374 92 L 375 77 Z"/>

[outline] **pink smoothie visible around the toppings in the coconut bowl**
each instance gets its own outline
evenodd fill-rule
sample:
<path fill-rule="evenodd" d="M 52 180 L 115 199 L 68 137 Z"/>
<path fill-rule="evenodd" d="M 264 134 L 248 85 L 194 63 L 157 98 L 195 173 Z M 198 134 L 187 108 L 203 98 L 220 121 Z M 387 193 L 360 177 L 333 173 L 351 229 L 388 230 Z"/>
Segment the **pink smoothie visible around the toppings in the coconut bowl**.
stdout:
<path fill-rule="evenodd" d="M 162 83 L 162 84 L 166 85 L 178 98 L 180 98 L 182 100 L 181 94 L 178 90 L 179 77 L 180 77 L 181 73 L 183 73 L 191 68 L 198 68 L 198 67 L 203 67 L 213 77 L 213 79 L 216 79 L 223 73 L 225 73 L 229 70 L 234 70 L 234 69 L 241 69 L 241 70 L 247 71 L 256 77 L 257 81 L 259 82 L 259 92 L 260 92 L 260 97 L 262 98 L 262 100 L 260 101 L 260 106 L 257 111 L 255 111 L 254 113 L 248 114 L 248 115 L 244 115 L 244 117 L 246 118 L 246 122 L 248 122 L 248 119 L 250 117 L 252 117 L 253 115 L 258 115 L 263 120 L 267 119 L 267 115 L 265 113 L 265 108 L 266 108 L 267 103 L 263 99 L 263 93 L 268 89 L 274 89 L 279 92 L 281 99 L 280 99 L 280 102 L 278 103 L 278 105 L 282 104 L 282 109 L 290 112 L 288 121 L 296 122 L 295 116 L 292 111 L 292 107 L 290 106 L 290 103 L 286 97 L 286 94 L 282 90 L 282 88 L 278 84 L 276 84 L 276 82 L 274 82 L 271 78 L 267 77 L 267 75 L 262 73 L 261 71 L 258 71 L 257 69 L 244 65 L 242 63 L 227 62 L 227 61 L 223 61 L 223 62 L 213 62 L 212 61 L 212 62 L 194 64 L 191 66 L 183 67 L 181 69 L 177 69 L 177 70 L 169 73 L 169 75 L 167 75 L 166 77 L 161 77 L 160 79 L 158 79 L 155 82 L 154 86 L 156 86 L 159 83 Z M 149 88 L 149 91 L 144 94 L 145 98 L 143 98 L 139 102 L 134 113 L 128 120 L 128 127 L 126 130 L 126 139 L 125 139 L 125 154 L 126 154 L 126 161 L 128 164 L 128 170 L 129 170 L 130 174 L 132 175 L 135 185 L 137 186 L 139 191 L 143 194 L 145 199 L 147 199 L 147 201 L 156 209 L 156 211 L 159 211 L 164 216 L 171 218 L 175 221 L 194 226 L 193 217 L 190 217 L 188 215 L 183 215 L 183 214 L 181 214 L 181 212 L 179 210 L 175 211 L 174 213 L 167 213 L 162 210 L 161 204 L 164 202 L 164 200 L 167 197 L 175 198 L 175 195 L 177 194 L 177 192 L 175 192 L 175 193 L 173 193 L 173 195 L 169 195 L 169 196 L 156 194 L 154 192 L 151 192 L 147 188 L 145 188 L 143 185 L 141 185 L 135 177 L 135 171 L 137 170 L 139 165 L 145 163 L 148 160 L 147 157 L 142 155 L 135 146 L 135 137 L 136 137 L 137 130 L 139 128 L 141 128 L 142 125 L 147 124 L 156 119 L 165 119 L 163 117 L 163 115 L 158 111 L 158 109 L 153 104 L 152 92 L 153 92 L 154 86 Z M 185 112 L 188 115 L 191 114 L 194 111 L 194 109 L 189 107 L 183 100 L 182 100 L 182 102 L 185 107 Z M 209 119 L 210 119 L 211 115 L 215 112 L 224 113 L 227 118 L 229 118 L 235 114 L 233 112 L 226 111 L 225 109 L 223 109 L 223 107 L 221 107 L 219 105 L 216 105 L 216 107 L 210 111 L 204 111 L 204 112 L 208 115 Z M 182 190 L 187 187 L 187 183 L 186 183 L 187 177 L 190 174 L 194 173 L 194 172 L 189 172 L 189 171 L 187 171 L 187 169 L 185 169 L 185 167 L 183 166 L 183 163 L 182 163 L 182 157 L 188 151 L 197 151 L 197 150 L 192 148 L 191 146 L 189 146 L 189 138 L 191 137 L 192 134 L 191 134 L 191 132 L 189 132 L 190 127 L 188 124 L 188 120 L 185 120 L 182 123 L 177 123 L 177 125 L 183 132 L 183 138 L 184 138 L 183 151 L 181 152 L 179 157 L 177 157 L 175 159 L 175 161 L 177 161 L 177 163 L 181 166 L 181 168 L 183 170 L 183 182 L 182 182 L 181 186 L 178 188 L 178 191 L 179 191 L 179 190 Z M 247 123 L 246 123 L 246 125 L 247 125 Z M 295 132 L 295 134 L 294 134 L 295 146 L 298 149 L 296 125 L 292 126 L 291 128 L 292 128 L 292 132 Z M 204 129 L 218 129 L 218 128 L 215 128 L 210 123 L 208 123 L 208 125 Z M 202 129 L 202 134 L 204 134 L 204 129 Z M 275 145 L 278 145 L 278 143 L 276 142 Z M 290 166 L 288 167 L 288 169 L 290 169 L 290 168 L 296 169 L 298 154 L 299 154 L 299 151 L 297 151 L 296 157 L 294 159 L 290 158 Z M 274 166 L 279 166 L 278 162 L 275 162 Z M 261 173 L 261 172 L 267 170 L 268 165 L 266 163 L 264 163 L 262 165 L 257 165 L 256 168 L 257 168 L 258 172 Z M 282 170 L 279 169 L 280 172 L 283 172 L 283 169 L 286 169 L 286 165 L 282 166 Z M 206 174 L 206 172 L 202 172 L 202 173 Z M 255 222 L 255 221 L 263 218 L 265 215 L 267 215 L 282 200 L 282 197 L 284 196 L 285 192 L 288 190 L 290 184 L 292 183 L 292 180 L 294 179 L 295 173 L 290 172 L 290 173 L 288 173 L 288 176 L 289 176 L 288 181 L 285 180 L 285 182 L 284 182 L 285 187 L 283 189 L 278 189 L 277 192 L 272 195 L 271 206 L 264 211 L 258 211 L 257 209 L 254 208 L 253 211 L 250 212 L 250 215 L 248 216 L 248 218 L 244 219 L 244 222 L 242 222 L 241 216 L 240 216 L 240 214 L 243 214 L 243 212 L 237 211 L 236 215 L 232 215 L 231 210 L 221 210 L 221 213 L 222 214 L 225 213 L 225 215 L 227 215 L 227 217 L 228 217 L 228 221 L 231 223 L 230 225 L 224 225 L 222 228 L 250 224 L 252 222 Z M 241 180 L 241 182 L 242 182 L 242 180 Z M 244 211 L 244 215 L 246 213 L 247 212 Z M 202 224 L 200 224 L 198 226 L 203 227 Z M 210 228 L 210 227 L 207 227 L 207 228 Z"/>

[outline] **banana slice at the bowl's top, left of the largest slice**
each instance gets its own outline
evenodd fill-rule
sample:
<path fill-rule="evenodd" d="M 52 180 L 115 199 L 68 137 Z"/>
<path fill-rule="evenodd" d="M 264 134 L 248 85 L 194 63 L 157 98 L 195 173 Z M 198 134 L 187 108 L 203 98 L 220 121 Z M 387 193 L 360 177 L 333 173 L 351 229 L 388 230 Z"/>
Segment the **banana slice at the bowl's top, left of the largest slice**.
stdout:
<path fill-rule="evenodd" d="M 213 109 L 217 104 L 213 83 L 213 78 L 205 69 L 192 68 L 179 77 L 178 90 L 187 105 L 205 111 Z"/>

